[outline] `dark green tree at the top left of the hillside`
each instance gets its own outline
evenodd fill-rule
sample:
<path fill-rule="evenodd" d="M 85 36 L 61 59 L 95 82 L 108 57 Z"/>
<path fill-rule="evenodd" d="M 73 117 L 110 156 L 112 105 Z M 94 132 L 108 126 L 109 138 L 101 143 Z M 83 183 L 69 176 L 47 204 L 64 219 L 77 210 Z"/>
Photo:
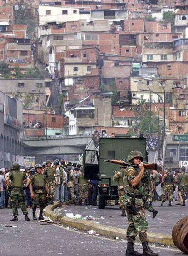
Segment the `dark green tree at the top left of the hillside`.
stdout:
<path fill-rule="evenodd" d="M 20 0 L 14 7 L 14 23 L 27 25 L 27 34 L 32 38 L 36 28 L 36 19 L 32 5 Z"/>

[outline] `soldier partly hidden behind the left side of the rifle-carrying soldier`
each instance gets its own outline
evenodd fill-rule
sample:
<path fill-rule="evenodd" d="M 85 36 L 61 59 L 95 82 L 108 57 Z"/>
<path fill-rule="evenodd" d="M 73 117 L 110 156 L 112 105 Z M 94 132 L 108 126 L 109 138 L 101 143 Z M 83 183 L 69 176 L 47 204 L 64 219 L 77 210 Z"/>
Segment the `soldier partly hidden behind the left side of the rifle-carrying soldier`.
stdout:
<path fill-rule="evenodd" d="M 119 171 L 115 171 L 115 174 L 112 177 L 113 181 L 118 182 L 119 208 L 122 211 L 122 213 L 119 216 L 126 216 L 124 199 L 123 199 L 123 196 L 125 195 L 124 183 L 123 183 L 124 171 L 125 171 L 125 168 L 121 167 L 121 169 Z"/>

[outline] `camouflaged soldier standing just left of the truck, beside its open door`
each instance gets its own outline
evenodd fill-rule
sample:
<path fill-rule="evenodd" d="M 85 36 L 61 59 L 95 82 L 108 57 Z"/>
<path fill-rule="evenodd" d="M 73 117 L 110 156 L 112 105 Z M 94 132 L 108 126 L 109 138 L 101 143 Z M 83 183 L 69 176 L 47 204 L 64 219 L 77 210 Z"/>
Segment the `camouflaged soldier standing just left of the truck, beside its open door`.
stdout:
<path fill-rule="evenodd" d="M 80 167 L 80 173 L 78 175 L 78 185 L 79 185 L 79 204 L 84 205 L 88 201 L 89 180 L 83 179 L 82 167 Z"/>

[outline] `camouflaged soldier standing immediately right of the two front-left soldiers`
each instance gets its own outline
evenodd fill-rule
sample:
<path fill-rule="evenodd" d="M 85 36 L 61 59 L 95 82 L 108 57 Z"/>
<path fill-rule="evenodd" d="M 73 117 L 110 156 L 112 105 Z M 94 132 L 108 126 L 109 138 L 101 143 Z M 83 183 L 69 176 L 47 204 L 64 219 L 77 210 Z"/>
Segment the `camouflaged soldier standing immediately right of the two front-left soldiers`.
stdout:
<path fill-rule="evenodd" d="M 46 161 L 46 167 L 44 169 L 44 175 L 47 181 L 47 201 L 48 204 L 54 203 L 54 189 L 55 189 L 55 171 L 51 167 L 52 162 L 50 160 Z"/>

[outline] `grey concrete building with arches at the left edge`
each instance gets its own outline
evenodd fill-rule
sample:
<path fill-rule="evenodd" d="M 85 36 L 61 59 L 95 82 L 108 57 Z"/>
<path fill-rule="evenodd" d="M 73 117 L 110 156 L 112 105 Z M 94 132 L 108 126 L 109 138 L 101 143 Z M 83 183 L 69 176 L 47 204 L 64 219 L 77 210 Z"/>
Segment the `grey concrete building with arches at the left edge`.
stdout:
<path fill-rule="evenodd" d="M 0 166 L 23 166 L 22 102 L 0 92 Z"/>

